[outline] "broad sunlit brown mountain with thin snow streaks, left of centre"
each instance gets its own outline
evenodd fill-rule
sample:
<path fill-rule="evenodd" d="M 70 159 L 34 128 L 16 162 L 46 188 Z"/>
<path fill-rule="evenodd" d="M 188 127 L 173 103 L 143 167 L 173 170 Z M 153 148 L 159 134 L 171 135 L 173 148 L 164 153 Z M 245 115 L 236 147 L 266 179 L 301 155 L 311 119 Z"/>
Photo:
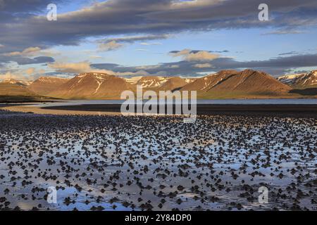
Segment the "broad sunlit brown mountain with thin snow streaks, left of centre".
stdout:
<path fill-rule="evenodd" d="M 135 86 L 125 79 L 104 73 L 84 73 L 62 84 L 48 96 L 77 99 L 118 99 L 125 90 L 134 90 Z"/>

